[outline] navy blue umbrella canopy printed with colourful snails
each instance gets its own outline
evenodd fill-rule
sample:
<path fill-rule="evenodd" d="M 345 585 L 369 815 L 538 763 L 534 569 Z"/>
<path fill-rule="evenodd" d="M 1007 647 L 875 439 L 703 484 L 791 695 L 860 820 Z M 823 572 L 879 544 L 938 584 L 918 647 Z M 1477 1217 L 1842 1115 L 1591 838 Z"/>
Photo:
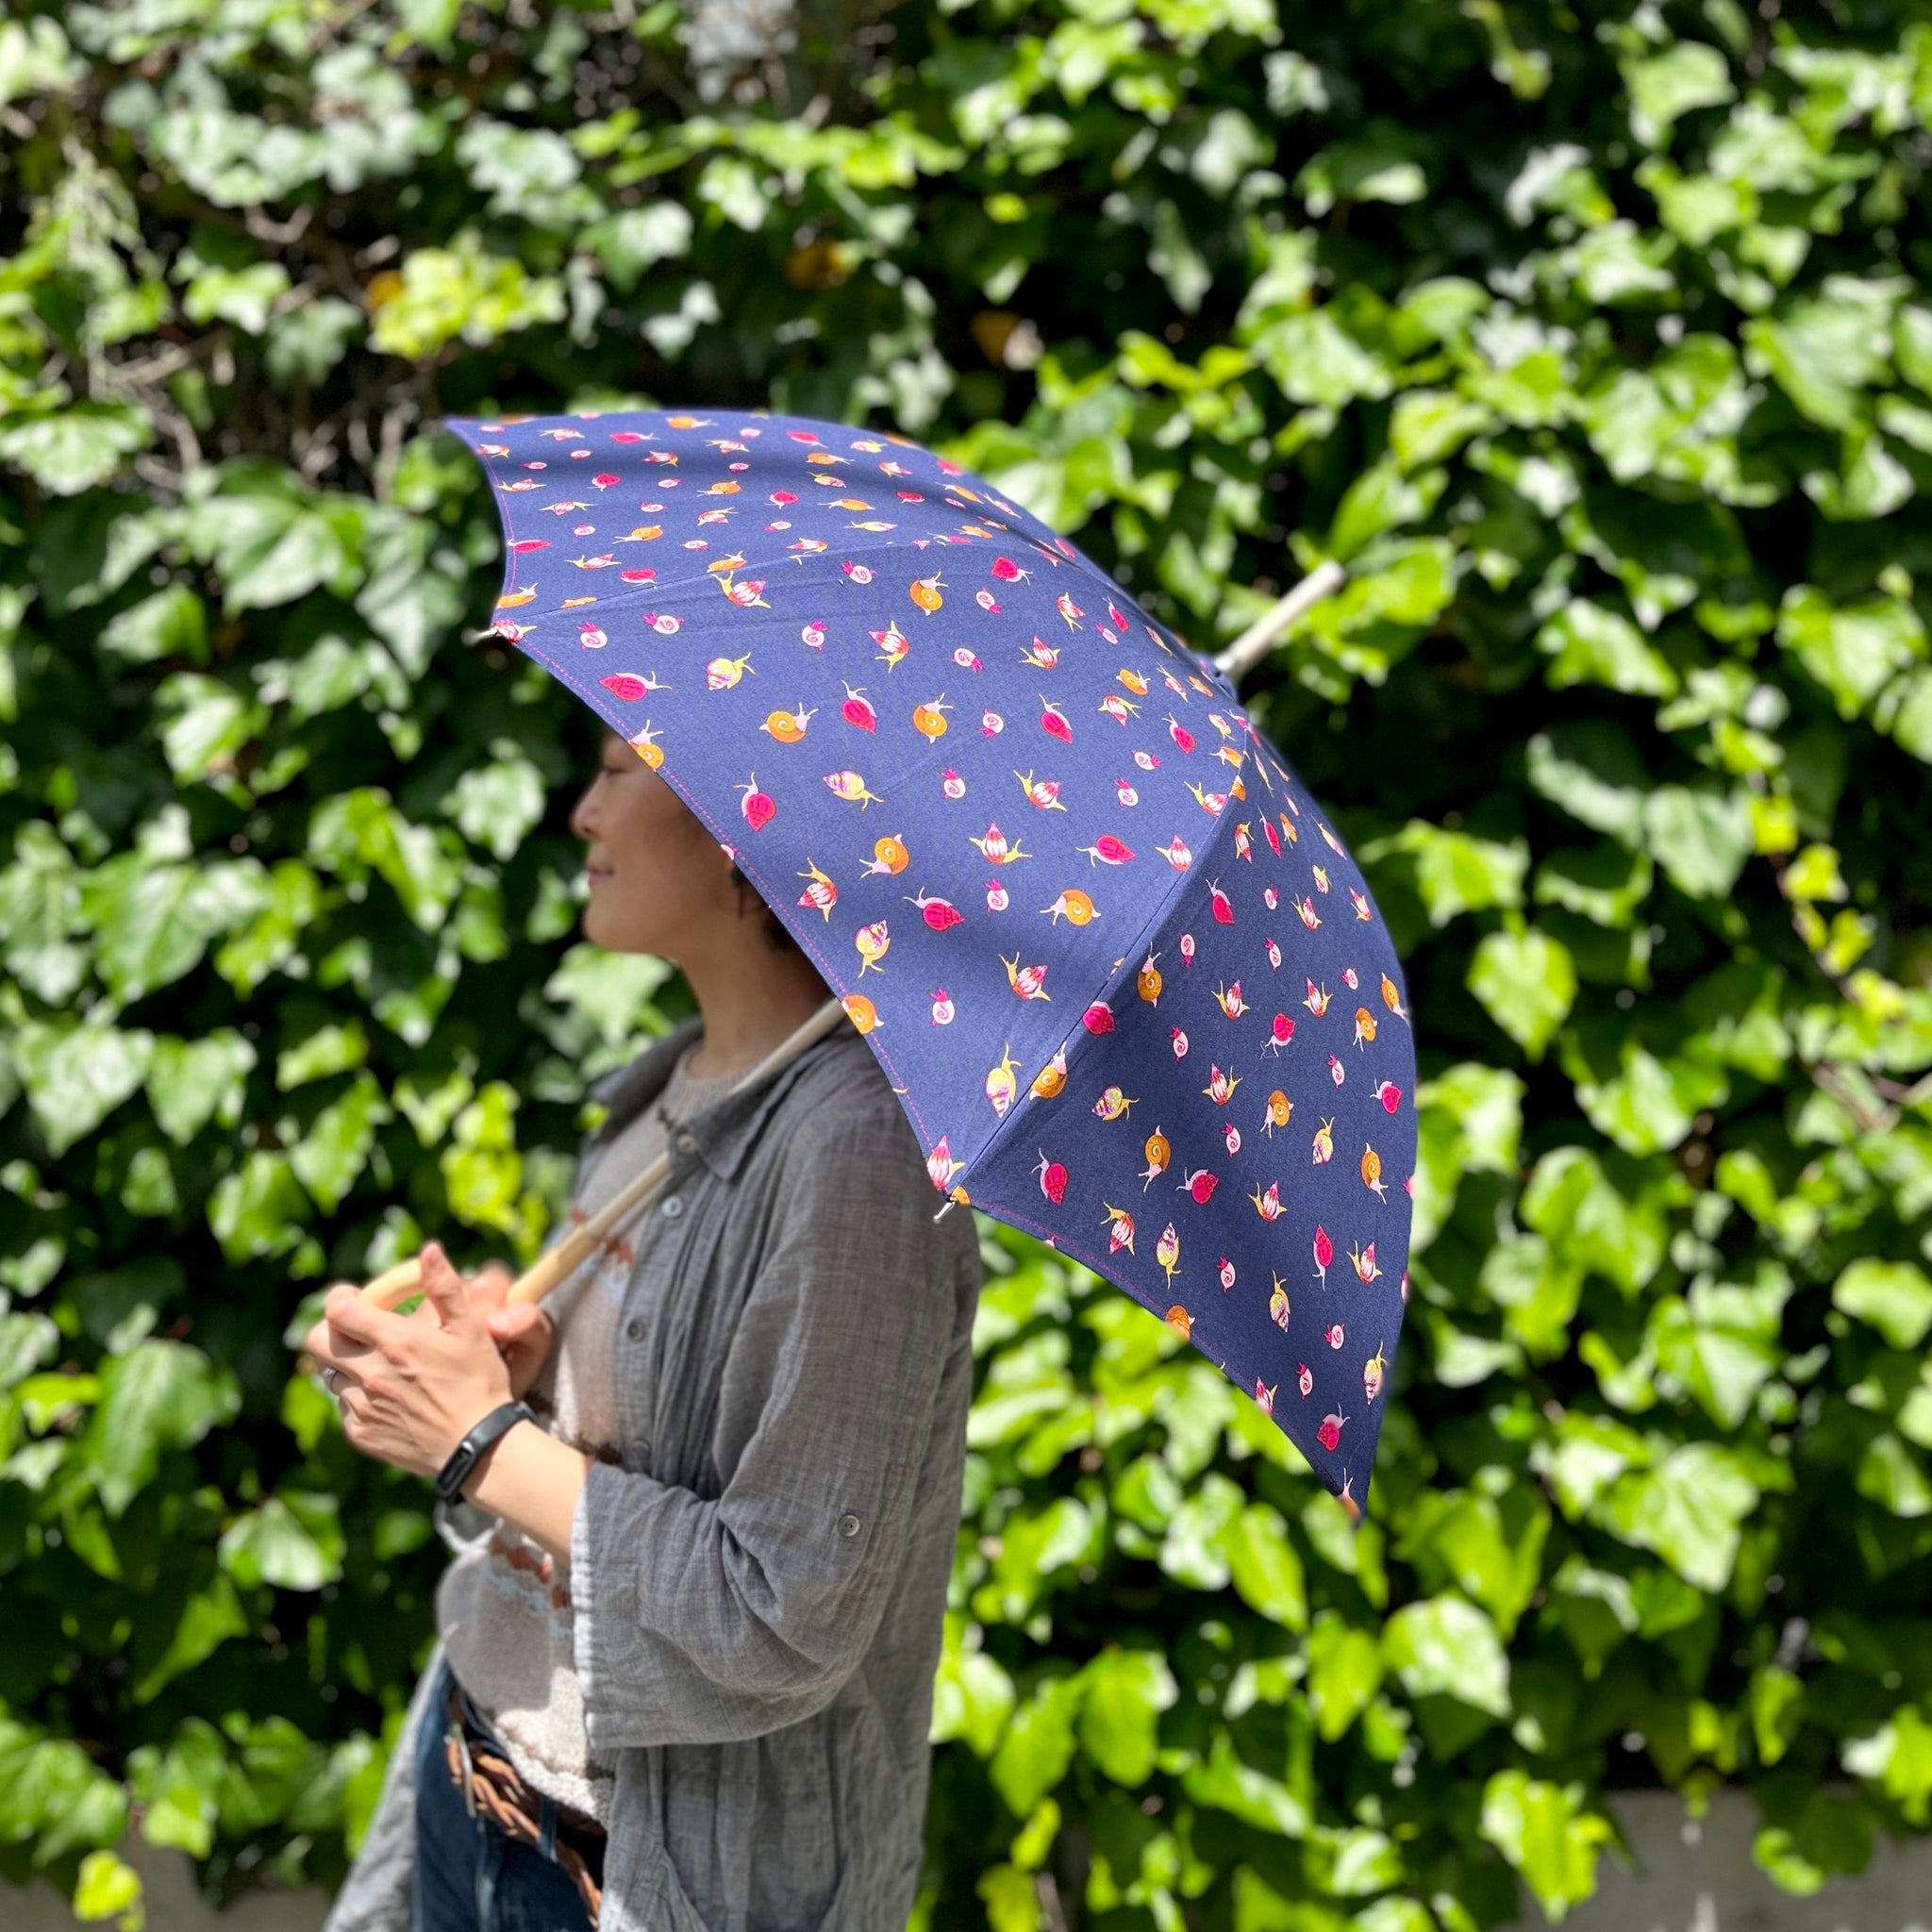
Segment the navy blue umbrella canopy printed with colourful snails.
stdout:
<path fill-rule="evenodd" d="M 864 1034 L 939 1211 L 1117 1283 L 1358 1503 L 1406 1302 L 1414 1045 L 1374 896 L 1227 670 L 896 435 L 450 427 L 502 518 L 497 632 L 784 920 L 838 1001 L 813 1026 Z"/>

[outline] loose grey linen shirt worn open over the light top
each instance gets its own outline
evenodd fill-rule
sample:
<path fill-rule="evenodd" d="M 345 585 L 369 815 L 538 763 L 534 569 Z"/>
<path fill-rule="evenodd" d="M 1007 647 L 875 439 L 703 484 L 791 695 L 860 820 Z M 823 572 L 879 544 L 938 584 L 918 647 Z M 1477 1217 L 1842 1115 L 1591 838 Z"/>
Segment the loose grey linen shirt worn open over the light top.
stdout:
<path fill-rule="evenodd" d="M 583 1155 L 697 1030 L 599 1084 L 611 1111 Z M 846 1026 L 684 1122 L 670 1159 L 616 1331 L 620 1461 L 591 1464 L 570 1542 L 585 1729 L 614 1774 L 603 1932 L 900 1932 L 960 1520 L 974 1219 L 933 1219 L 918 1138 Z M 435 1663 L 327 1932 L 410 1924 Z"/>

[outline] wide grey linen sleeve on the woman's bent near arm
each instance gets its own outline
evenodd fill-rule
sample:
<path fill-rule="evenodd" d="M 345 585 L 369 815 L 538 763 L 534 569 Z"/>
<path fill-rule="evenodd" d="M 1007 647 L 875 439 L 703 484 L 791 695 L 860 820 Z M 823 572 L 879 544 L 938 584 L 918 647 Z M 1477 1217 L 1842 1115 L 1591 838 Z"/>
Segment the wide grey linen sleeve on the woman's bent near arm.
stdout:
<path fill-rule="evenodd" d="M 723 1493 L 597 1463 L 570 1546 L 593 1748 L 726 1743 L 837 1696 L 898 1578 L 958 1321 L 958 1231 L 891 1095 L 804 1122 L 723 1368 Z M 951 1217 L 949 1217 L 951 1219 Z"/>

